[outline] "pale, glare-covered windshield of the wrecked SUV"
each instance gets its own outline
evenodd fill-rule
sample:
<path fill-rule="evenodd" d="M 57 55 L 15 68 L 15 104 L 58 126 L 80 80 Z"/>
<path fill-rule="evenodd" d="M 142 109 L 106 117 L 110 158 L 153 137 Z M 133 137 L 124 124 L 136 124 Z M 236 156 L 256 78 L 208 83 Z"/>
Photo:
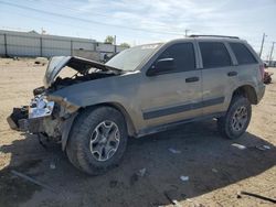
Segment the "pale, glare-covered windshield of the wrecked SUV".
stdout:
<path fill-rule="evenodd" d="M 161 44 L 147 44 L 135 46 L 121 51 L 118 55 L 109 59 L 106 65 L 123 69 L 135 70 L 137 66 L 149 57 Z"/>

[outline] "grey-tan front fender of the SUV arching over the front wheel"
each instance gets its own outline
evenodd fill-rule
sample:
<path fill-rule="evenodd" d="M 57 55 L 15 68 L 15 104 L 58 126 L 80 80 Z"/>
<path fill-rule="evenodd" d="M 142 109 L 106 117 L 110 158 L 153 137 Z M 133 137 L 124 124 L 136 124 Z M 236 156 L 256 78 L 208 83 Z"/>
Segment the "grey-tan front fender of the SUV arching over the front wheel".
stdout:
<path fill-rule="evenodd" d="M 47 95 L 47 99 L 56 101 L 72 113 L 86 107 L 112 105 L 125 116 L 129 135 L 134 135 L 141 128 L 144 121 L 139 109 L 139 100 L 134 96 L 137 92 L 136 83 L 138 83 L 136 75 L 130 75 L 128 78 L 114 76 L 95 79 L 51 92 Z M 66 127 L 64 127 L 65 131 L 62 134 L 63 149 L 66 145 L 73 122 L 74 120 L 67 121 Z"/>

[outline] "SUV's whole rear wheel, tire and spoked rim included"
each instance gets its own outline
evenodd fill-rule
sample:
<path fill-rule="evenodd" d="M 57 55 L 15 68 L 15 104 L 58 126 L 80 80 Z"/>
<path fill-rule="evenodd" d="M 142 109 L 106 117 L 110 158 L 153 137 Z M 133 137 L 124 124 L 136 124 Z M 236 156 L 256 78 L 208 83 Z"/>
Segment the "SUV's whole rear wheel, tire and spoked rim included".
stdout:
<path fill-rule="evenodd" d="M 237 139 L 246 131 L 251 121 L 251 116 L 252 107 L 248 99 L 236 96 L 231 101 L 226 115 L 219 118 L 219 131 L 227 139 Z"/>

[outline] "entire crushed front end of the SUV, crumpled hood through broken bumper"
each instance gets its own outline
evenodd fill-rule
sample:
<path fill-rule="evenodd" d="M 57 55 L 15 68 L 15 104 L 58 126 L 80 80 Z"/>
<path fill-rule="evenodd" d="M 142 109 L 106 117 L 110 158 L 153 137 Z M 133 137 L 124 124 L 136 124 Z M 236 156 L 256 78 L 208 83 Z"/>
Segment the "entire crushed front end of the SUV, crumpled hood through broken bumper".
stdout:
<path fill-rule="evenodd" d="M 75 75 L 59 76 L 60 72 L 66 67 L 74 69 Z M 119 69 L 81 57 L 52 57 L 45 72 L 44 86 L 33 90 L 34 98 L 29 106 L 13 108 L 7 121 L 13 130 L 42 134 L 50 140 L 62 141 L 64 150 L 70 129 L 82 106 L 67 99 L 66 96 L 74 97 L 73 91 L 68 89 L 66 94 L 61 90 L 119 74 Z M 79 88 L 85 90 L 85 87 Z"/>

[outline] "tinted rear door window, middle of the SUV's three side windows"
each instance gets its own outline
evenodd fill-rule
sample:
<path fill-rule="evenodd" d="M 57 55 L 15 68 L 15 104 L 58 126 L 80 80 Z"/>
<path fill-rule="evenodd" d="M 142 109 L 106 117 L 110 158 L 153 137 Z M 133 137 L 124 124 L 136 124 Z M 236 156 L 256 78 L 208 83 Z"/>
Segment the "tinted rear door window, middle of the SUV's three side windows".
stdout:
<path fill-rule="evenodd" d="M 223 43 L 200 42 L 200 51 L 204 68 L 231 66 L 230 54 Z"/>

